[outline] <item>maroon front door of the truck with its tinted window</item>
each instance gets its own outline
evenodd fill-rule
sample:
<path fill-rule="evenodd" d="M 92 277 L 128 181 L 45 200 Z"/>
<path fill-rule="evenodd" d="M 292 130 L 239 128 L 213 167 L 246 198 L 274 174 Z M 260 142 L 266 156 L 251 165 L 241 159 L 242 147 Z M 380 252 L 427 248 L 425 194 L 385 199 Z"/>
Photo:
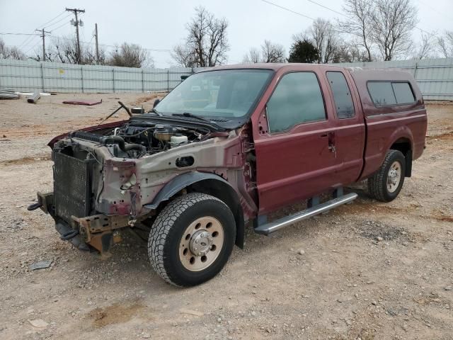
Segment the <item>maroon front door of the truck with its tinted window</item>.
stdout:
<path fill-rule="evenodd" d="M 336 122 L 323 77 L 308 67 L 277 72 L 252 118 L 260 214 L 338 184 Z"/>

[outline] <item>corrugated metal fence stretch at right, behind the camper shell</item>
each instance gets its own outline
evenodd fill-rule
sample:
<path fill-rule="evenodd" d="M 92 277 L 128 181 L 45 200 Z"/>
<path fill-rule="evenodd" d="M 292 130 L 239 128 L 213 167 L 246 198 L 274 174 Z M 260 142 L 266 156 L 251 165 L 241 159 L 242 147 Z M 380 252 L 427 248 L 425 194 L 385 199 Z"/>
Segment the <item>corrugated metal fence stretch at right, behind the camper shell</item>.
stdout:
<path fill-rule="evenodd" d="M 425 100 L 453 101 L 453 58 L 395 60 L 391 62 L 347 62 L 339 65 L 403 69 L 413 74 Z"/>

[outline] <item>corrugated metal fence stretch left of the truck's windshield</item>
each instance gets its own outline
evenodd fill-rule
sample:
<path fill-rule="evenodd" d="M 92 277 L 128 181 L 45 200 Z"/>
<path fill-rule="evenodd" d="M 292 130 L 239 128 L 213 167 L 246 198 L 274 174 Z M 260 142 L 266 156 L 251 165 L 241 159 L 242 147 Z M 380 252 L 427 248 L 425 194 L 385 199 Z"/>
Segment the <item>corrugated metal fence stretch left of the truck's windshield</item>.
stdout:
<path fill-rule="evenodd" d="M 0 60 L 0 88 L 75 93 L 169 91 L 181 76 L 194 71 Z"/>

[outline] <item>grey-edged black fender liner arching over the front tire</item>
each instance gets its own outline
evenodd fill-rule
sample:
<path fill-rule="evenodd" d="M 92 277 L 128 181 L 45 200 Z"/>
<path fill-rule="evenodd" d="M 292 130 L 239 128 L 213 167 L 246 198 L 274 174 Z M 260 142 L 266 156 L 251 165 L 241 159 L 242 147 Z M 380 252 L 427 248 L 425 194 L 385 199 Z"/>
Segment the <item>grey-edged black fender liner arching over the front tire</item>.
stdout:
<path fill-rule="evenodd" d="M 209 172 L 198 172 L 198 171 L 191 171 L 191 172 L 186 172 L 185 174 L 180 174 L 176 176 L 173 180 L 170 182 L 166 183 L 164 188 L 161 188 L 161 191 L 154 197 L 154 200 L 152 203 L 144 205 L 144 208 L 148 208 L 151 210 L 155 210 L 156 208 L 159 207 L 159 204 L 169 200 L 171 197 L 176 195 L 179 191 L 183 190 L 183 188 L 187 188 L 188 186 L 191 186 L 197 182 L 205 181 L 205 180 L 210 180 L 214 181 L 214 183 L 219 183 L 222 186 L 228 186 L 231 190 L 229 192 L 231 194 L 226 193 L 226 195 L 229 195 L 227 199 L 222 199 L 222 197 L 217 197 L 221 199 L 226 205 L 229 206 L 231 209 L 231 212 L 234 215 L 234 220 L 236 220 L 236 245 L 239 246 L 239 248 L 243 248 L 244 244 L 244 218 L 243 218 L 243 210 L 241 207 L 241 200 L 239 199 L 239 195 L 236 192 L 236 189 L 231 186 L 231 184 L 222 179 L 222 177 L 212 174 Z M 211 183 L 213 184 L 213 183 Z M 214 186 L 214 185 L 213 185 Z M 228 191 L 228 190 L 226 190 Z M 217 195 L 213 195 L 217 196 Z M 235 196 L 235 197 L 232 197 Z M 235 202 L 232 203 L 231 199 L 234 200 Z M 234 208 L 236 207 L 236 208 Z"/>

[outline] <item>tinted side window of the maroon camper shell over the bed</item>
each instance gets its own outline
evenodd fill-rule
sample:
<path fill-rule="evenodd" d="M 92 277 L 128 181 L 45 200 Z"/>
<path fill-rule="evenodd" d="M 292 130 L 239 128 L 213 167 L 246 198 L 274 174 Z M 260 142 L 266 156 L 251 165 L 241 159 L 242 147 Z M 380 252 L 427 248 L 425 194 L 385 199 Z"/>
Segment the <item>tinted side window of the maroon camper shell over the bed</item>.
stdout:
<path fill-rule="evenodd" d="M 375 106 L 415 103 L 408 81 L 368 81 L 367 88 Z"/>

